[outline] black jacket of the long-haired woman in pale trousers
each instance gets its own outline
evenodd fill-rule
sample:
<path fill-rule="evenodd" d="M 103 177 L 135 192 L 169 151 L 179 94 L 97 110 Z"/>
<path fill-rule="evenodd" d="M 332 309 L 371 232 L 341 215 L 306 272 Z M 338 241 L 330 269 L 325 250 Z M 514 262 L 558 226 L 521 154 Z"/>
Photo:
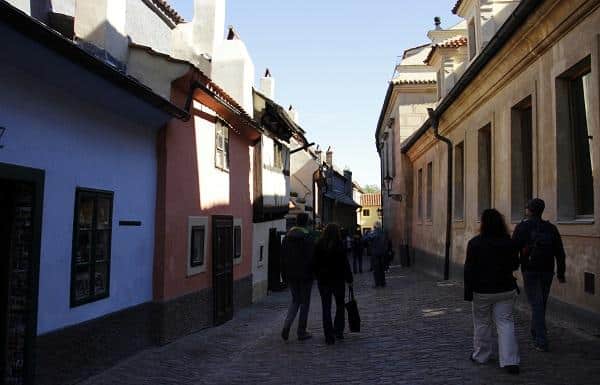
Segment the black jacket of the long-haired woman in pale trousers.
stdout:
<path fill-rule="evenodd" d="M 467 245 L 465 300 L 475 293 L 502 293 L 516 288 L 513 271 L 519 268 L 515 243 L 506 237 L 478 235 Z"/>

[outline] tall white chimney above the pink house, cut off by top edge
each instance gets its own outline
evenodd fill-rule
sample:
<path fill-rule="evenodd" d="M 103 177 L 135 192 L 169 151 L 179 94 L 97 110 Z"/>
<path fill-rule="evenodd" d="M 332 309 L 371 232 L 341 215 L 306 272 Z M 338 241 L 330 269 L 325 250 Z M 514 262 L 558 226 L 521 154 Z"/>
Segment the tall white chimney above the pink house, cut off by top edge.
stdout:
<path fill-rule="evenodd" d="M 217 45 L 223 40 L 225 0 L 194 0 L 192 25 L 194 53 L 212 56 Z"/>

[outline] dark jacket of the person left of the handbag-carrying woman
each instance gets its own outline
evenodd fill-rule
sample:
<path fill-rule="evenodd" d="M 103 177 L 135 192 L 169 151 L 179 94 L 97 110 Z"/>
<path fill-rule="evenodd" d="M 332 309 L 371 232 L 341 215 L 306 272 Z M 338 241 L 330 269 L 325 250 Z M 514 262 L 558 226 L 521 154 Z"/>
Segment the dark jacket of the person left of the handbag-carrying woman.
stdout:
<path fill-rule="evenodd" d="M 285 236 L 281 250 L 286 279 L 311 281 L 314 270 L 314 240 L 309 230 L 292 227 Z"/>

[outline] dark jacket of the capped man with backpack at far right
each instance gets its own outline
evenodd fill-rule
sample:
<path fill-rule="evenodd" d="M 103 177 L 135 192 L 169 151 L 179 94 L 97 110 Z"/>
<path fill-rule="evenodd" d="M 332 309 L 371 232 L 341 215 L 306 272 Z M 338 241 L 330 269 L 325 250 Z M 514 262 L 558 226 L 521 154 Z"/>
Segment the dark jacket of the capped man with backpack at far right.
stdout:
<path fill-rule="evenodd" d="M 541 251 L 544 255 L 531 256 L 532 237 L 537 231 L 547 235 L 548 247 Z M 556 259 L 556 275 L 559 278 L 564 278 L 565 249 L 556 226 L 541 218 L 526 219 L 515 228 L 513 239 L 521 256 L 522 271 L 553 273 L 554 259 Z"/>

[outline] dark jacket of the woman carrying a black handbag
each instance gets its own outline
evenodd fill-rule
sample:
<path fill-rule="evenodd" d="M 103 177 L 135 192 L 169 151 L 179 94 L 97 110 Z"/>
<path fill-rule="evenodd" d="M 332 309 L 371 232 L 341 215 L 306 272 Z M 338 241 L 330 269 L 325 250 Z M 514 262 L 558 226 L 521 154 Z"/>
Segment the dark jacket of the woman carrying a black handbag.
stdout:
<path fill-rule="evenodd" d="M 344 281 L 352 283 L 352 270 L 342 242 L 332 247 L 329 247 L 324 240 L 317 242 L 315 247 L 315 274 L 321 284 Z"/>

